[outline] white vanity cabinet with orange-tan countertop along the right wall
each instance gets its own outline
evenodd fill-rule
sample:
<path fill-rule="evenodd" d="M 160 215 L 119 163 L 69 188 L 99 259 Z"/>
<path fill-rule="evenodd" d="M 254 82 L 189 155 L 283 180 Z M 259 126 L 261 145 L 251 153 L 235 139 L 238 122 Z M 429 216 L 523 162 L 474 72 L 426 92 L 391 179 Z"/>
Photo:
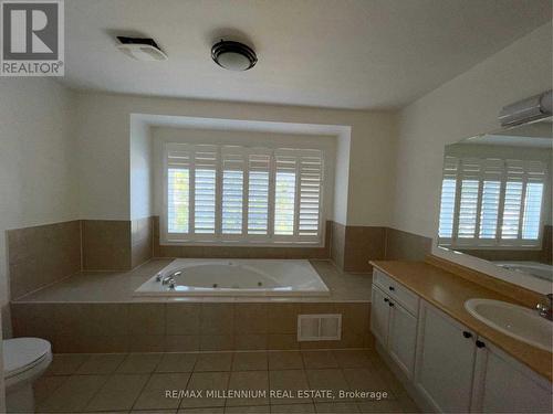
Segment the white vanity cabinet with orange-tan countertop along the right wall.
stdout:
<path fill-rule="evenodd" d="M 514 302 L 415 262 L 372 262 L 371 329 L 377 349 L 424 410 L 552 411 L 552 353 L 472 317 L 465 302 Z"/>

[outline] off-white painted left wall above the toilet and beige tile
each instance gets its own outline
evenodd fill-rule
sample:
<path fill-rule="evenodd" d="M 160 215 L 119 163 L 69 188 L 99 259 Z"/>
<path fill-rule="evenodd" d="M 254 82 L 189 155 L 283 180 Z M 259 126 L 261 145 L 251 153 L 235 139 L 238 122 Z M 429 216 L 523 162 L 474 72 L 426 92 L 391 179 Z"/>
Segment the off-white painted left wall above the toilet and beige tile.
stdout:
<path fill-rule="evenodd" d="M 73 93 L 49 78 L 0 78 L 0 306 L 6 230 L 77 219 Z"/>

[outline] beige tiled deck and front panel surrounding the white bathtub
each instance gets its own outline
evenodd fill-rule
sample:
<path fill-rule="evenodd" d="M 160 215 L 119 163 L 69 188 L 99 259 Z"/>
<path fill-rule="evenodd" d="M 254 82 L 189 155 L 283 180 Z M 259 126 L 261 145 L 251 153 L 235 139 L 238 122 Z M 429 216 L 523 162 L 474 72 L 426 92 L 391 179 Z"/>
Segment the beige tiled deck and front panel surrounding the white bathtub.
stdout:
<path fill-rule="evenodd" d="M 290 350 L 373 347 L 368 275 L 312 261 L 327 297 L 136 297 L 170 259 L 132 272 L 82 273 L 11 302 L 15 336 L 49 339 L 56 352 Z M 340 341 L 298 342 L 299 314 L 343 315 Z"/>

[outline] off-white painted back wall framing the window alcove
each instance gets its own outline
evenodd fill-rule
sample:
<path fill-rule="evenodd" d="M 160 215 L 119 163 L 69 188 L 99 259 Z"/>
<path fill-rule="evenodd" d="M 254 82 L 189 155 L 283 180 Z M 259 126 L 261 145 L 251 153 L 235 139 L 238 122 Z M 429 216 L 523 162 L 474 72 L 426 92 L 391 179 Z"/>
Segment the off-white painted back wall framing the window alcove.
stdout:
<path fill-rule="evenodd" d="M 90 93 L 79 94 L 77 107 L 82 219 L 129 219 L 129 118 L 131 114 L 153 114 L 351 126 L 347 223 L 389 222 L 393 183 L 389 166 L 395 159 L 396 137 L 392 113 Z M 340 152 L 347 153 L 343 149 Z"/>

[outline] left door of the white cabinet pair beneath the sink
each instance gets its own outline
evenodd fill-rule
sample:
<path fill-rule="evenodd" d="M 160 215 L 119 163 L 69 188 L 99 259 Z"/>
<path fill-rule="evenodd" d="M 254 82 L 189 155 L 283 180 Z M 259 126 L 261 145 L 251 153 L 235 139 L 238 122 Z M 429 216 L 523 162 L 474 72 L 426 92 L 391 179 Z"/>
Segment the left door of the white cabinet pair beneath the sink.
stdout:
<path fill-rule="evenodd" d="M 436 411 L 469 411 L 474 350 L 472 333 L 422 301 L 417 333 L 415 385 Z"/>

